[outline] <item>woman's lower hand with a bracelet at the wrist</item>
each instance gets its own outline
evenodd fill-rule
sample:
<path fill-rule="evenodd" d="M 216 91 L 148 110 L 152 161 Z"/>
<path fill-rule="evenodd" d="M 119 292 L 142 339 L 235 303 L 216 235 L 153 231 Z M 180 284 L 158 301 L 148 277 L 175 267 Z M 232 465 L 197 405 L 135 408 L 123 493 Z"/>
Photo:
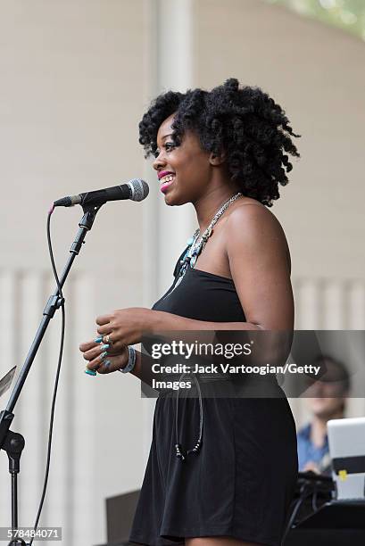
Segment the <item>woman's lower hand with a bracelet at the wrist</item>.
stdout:
<path fill-rule="evenodd" d="M 118 352 L 112 350 L 112 346 L 107 349 L 107 354 L 104 359 L 102 344 L 95 343 L 94 340 L 81 343 L 79 350 L 83 352 L 84 359 L 87 360 L 87 368 L 94 369 L 98 374 L 110 374 L 120 368 L 124 368 L 128 364 L 129 350 L 128 345 L 123 345 Z M 105 365 L 105 362 L 109 364 Z"/>

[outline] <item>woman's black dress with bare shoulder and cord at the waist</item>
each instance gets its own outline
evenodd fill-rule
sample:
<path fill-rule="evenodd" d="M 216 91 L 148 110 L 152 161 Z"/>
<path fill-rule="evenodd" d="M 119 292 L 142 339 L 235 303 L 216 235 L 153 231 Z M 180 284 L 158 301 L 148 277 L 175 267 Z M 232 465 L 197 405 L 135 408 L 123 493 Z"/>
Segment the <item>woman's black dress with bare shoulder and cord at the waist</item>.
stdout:
<path fill-rule="evenodd" d="M 177 285 L 185 252 L 173 284 L 152 309 L 245 321 L 233 280 L 188 268 Z M 185 537 L 229 536 L 279 546 L 298 470 L 294 418 L 284 393 L 203 398 L 203 443 L 183 462 L 176 456 L 175 416 L 175 397 L 160 394 L 129 542 L 176 546 Z M 198 398 L 180 398 L 178 434 L 187 448 L 196 443 L 199 418 Z"/>

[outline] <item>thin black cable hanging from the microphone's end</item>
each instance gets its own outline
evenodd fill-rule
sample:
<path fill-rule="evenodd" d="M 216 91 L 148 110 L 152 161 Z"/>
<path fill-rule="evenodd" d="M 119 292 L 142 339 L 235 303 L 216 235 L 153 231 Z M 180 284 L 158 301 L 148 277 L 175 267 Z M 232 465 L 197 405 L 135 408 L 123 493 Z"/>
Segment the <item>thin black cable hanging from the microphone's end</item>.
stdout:
<path fill-rule="evenodd" d="M 63 344 L 64 344 L 64 333 L 65 333 L 65 325 L 66 325 L 66 313 L 65 313 L 65 309 L 64 309 L 64 299 L 63 299 L 63 294 L 62 294 L 62 287 L 60 285 L 60 279 L 58 277 L 57 269 L 56 269 L 55 263 L 54 263 L 54 251 L 53 251 L 53 248 L 52 248 L 52 241 L 51 241 L 51 215 L 52 215 L 53 211 L 54 211 L 54 206 L 52 206 L 51 209 L 48 211 L 46 232 L 47 232 L 48 251 L 49 251 L 49 256 L 50 256 L 50 260 L 51 260 L 51 264 L 52 264 L 52 269 L 53 269 L 53 272 L 54 272 L 54 279 L 55 279 L 55 282 L 57 284 L 58 295 L 61 298 L 61 305 L 60 305 L 61 311 L 62 311 L 61 342 L 60 342 L 60 351 L 59 351 L 59 355 L 58 355 L 58 364 L 57 364 L 56 376 L 55 376 L 55 379 L 54 379 L 54 394 L 53 394 L 52 405 L 51 405 L 51 416 L 50 416 L 50 420 L 49 420 L 47 457 L 46 457 L 46 471 L 45 471 L 45 478 L 44 478 L 44 482 L 43 482 L 43 491 L 42 491 L 41 499 L 39 501 L 39 507 L 38 507 L 38 511 L 37 511 L 36 522 L 35 522 L 35 524 L 33 526 L 34 534 L 31 537 L 31 540 L 29 542 L 29 546 L 32 546 L 35 535 L 37 533 L 37 526 L 38 526 L 38 523 L 39 523 L 39 518 L 40 518 L 40 515 L 41 515 L 41 512 L 42 512 L 43 505 L 44 505 L 44 502 L 45 502 L 45 497 L 46 497 L 46 487 L 47 487 L 47 483 L 48 483 L 49 469 L 50 469 L 50 463 L 51 463 L 52 434 L 53 434 L 53 430 L 54 430 L 54 409 L 55 409 L 55 401 L 56 401 L 56 395 L 57 395 L 57 389 L 58 389 L 58 382 L 59 382 L 60 372 L 61 372 L 61 362 L 62 362 L 62 353 L 63 353 Z"/>

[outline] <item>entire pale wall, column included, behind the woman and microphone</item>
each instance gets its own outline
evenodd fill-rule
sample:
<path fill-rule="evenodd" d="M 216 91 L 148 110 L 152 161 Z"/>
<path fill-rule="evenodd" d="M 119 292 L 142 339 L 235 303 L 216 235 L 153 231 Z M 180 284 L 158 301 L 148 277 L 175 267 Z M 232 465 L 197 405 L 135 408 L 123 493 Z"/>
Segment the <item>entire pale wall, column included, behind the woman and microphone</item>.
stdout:
<path fill-rule="evenodd" d="M 65 289 L 66 347 L 41 520 L 62 525 L 63 543 L 105 541 L 104 498 L 141 485 L 154 405 L 141 400 L 132 376 L 86 376 L 79 343 L 94 335 L 97 315 L 149 307 L 195 228 L 192 207 L 163 205 L 137 144 L 149 101 L 170 87 L 236 76 L 284 105 L 303 134 L 303 159 L 273 207 L 291 246 L 297 327 L 364 328 L 364 47 L 259 0 L 0 0 L 0 374 L 21 366 L 53 287 L 49 204 L 141 175 L 150 184 L 144 203 L 109 203 L 98 213 Z M 54 212 L 59 267 L 80 216 L 79 208 Z M 32 525 L 37 512 L 59 331 L 57 316 L 12 426 L 27 441 L 21 525 Z M 302 422 L 303 404 L 293 407 Z M 364 409 L 354 401 L 351 414 Z M 2 453 L 0 525 L 10 523 L 8 480 Z"/>

